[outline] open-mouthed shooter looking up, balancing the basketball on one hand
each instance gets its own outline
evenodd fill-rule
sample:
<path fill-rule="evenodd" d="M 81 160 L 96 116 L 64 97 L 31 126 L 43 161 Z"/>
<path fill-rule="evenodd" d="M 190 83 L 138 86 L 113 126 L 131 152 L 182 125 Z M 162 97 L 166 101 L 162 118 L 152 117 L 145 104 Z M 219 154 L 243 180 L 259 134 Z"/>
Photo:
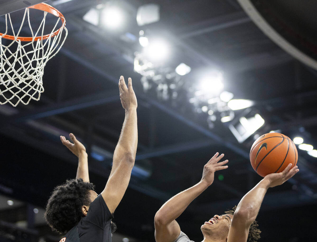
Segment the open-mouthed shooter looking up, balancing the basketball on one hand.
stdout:
<path fill-rule="evenodd" d="M 181 231 L 176 219 L 187 206 L 214 181 L 215 172 L 227 169 L 228 160 L 221 161 L 224 154 L 217 152 L 205 165 L 201 180 L 168 200 L 154 217 L 156 242 L 194 242 Z M 263 198 L 269 187 L 283 184 L 299 170 L 289 164 L 284 171 L 265 176 L 235 206 L 223 215 L 214 215 L 200 227 L 203 242 L 256 242 L 261 231 L 255 221 Z M 212 197 L 210 198 L 212 200 Z"/>

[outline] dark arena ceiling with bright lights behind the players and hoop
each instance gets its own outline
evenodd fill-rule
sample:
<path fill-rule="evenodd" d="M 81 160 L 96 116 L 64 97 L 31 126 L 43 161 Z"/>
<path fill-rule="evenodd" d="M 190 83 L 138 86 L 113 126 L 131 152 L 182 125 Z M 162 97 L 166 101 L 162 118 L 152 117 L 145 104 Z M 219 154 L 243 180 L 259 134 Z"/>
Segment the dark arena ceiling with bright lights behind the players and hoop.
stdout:
<path fill-rule="evenodd" d="M 113 242 L 155 241 L 156 211 L 196 184 L 220 152 L 229 168 L 177 220 L 202 241 L 204 221 L 261 180 L 249 151 L 269 132 L 294 140 L 300 172 L 268 190 L 259 241 L 316 240 L 316 1 L 46 3 L 65 16 L 68 37 L 44 68 L 40 100 L 0 106 L 0 241 L 62 238 L 43 218 L 52 189 L 76 176 L 61 135 L 83 142 L 90 181 L 103 190 L 124 119 L 120 75 L 133 80 L 139 143 Z"/>

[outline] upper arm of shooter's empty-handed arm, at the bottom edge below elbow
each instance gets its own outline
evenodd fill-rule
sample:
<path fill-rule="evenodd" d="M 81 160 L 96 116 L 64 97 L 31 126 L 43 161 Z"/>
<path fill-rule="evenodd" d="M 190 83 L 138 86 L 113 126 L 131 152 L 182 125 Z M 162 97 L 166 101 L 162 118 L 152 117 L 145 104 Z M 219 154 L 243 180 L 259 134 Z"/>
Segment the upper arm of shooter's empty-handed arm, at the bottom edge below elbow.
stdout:
<path fill-rule="evenodd" d="M 173 242 L 180 234 L 180 227 L 176 220 L 167 225 L 159 222 L 155 222 L 154 225 L 156 242 Z"/>

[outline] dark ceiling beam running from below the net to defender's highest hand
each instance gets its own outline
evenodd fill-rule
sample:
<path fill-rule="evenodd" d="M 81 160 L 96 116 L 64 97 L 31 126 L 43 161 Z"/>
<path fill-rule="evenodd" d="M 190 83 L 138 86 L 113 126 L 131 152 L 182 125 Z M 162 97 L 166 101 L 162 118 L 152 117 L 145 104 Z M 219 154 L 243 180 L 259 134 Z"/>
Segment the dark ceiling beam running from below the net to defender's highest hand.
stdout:
<path fill-rule="evenodd" d="M 8 118 L 2 119 L 1 124 L 11 124 L 17 122 L 24 122 L 28 119 L 38 119 L 49 117 L 56 114 L 61 114 L 65 112 L 71 112 L 74 110 L 79 110 L 91 106 L 107 104 L 110 102 L 119 101 L 118 91 L 111 90 L 105 93 L 89 95 L 86 97 L 80 97 L 73 100 L 55 103 L 50 106 L 40 107 L 33 110 L 28 110 L 25 112 L 18 113 L 16 115 L 11 115 Z"/>

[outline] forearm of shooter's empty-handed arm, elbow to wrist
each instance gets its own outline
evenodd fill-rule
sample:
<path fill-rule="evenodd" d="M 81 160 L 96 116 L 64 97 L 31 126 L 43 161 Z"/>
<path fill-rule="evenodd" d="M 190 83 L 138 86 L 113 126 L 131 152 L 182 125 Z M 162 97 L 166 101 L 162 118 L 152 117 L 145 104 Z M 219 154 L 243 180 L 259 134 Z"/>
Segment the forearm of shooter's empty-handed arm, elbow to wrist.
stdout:
<path fill-rule="evenodd" d="M 178 218 L 188 205 L 206 190 L 208 184 L 203 180 L 169 199 L 155 215 L 156 223 L 168 224 Z"/>

